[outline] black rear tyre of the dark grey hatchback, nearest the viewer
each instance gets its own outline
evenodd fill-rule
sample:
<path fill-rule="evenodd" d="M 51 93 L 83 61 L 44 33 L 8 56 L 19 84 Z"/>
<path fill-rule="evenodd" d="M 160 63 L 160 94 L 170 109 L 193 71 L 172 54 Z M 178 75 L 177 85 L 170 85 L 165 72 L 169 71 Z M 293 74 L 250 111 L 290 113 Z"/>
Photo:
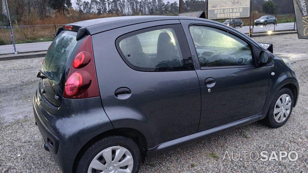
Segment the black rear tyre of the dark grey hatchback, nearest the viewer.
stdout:
<path fill-rule="evenodd" d="M 115 156 L 117 152 L 120 153 L 120 155 L 124 153 L 122 154 L 122 156 L 120 155 L 117 156 L 117 158 L 120 158 L 119 162 L 114 160 L 116 159 Z M 107 163 L 105 157 L 107 160 L 111 160 L 111 162 L 108 161 L 110 164 Z M 128 162 L 129 164 L 127 166 L 120 167 L 122 166 L 120 165 L 120 162 L 123 161 L 124 159 L 129 159 L 132 161 Z M 96 170 L 93 167 L 96 167 L 94 163 L 98 163 L 97 161 L 99 161 L 101 164 L 100 163 L 98 164 L 99 169 Z M 113 161 L 115 161 L 115 163 L 113 163 Z M 124 136 L 109 136 L 96 141 L 90 147 L 88 147 L 88 149 L 79 159 L 76 168 L 76 173 L 88 173 L 88 172 L 95 173 L 106 170 L 108 170 L 109 172 L 110 171 L 113 172 L 117 169 L 126 169 L 129 170 L 128 172 L 137 173 L 140 168 L 140 163 L 141 163 L 141 155 L 139 147 L 133 140 Z M 90 164 L 92 165 L 91 167 Z"/>

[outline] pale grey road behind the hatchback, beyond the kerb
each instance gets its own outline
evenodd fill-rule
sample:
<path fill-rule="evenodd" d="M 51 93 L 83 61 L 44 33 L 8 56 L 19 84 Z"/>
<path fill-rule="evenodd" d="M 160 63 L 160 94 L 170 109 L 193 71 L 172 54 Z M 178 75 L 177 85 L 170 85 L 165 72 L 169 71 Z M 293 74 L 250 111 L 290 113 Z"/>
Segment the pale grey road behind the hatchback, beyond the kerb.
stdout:
<path fill-rule="evenodd" d="M 295 26 L 296 28 L 296 26 Z M 244 26 L 242 28 L 236 27 L 239 31 L 243 33 L 249 33 L 249 26 Z M 285 29 L 294 29 L 294 23 L 279 23 L 275 27 L 275 30 L 285 30 Z M 268 24 L 267 26 L 254 26 L 253 32 L 262 32 L 262 31 L 273 31 L 274 25 Z M 18 53 L 29 52 L 29 51 L 45 51 L 48 49 L 48 46 L 51 44 L 51 41 L 48 42 L 39 42 L 39 43 L 24 43 L 17 44 L 16 50 Z M 0 54 L 4 53 L 14 53 L 13 45 L 2 45 L 0 46 Z"/>

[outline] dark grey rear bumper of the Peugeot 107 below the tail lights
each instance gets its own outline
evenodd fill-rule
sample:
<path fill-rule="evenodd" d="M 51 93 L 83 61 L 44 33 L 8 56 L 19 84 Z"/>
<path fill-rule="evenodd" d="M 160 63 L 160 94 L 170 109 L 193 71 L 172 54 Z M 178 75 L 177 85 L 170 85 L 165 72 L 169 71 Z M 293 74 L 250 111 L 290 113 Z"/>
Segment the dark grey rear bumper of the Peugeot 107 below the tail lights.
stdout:
<path fill-rule="evenodd" d="M 40 88 L 33 99 L 36 124 L 44 143 L 63 173 L 72 173 L 75 159 L 91 139 L 113 128 L 100 97 L 65 99 L 59 108 L 49 107 Z"/>

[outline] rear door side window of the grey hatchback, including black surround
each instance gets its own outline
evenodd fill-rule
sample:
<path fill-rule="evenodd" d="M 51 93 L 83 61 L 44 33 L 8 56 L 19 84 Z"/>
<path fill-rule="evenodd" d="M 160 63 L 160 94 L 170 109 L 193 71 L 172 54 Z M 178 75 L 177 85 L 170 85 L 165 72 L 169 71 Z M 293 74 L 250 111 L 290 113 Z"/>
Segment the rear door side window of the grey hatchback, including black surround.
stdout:
<path fill-rule="evenodd" d="M 132 69 L 193 70 L 187 40 L 180 25 L 142 29 L 121 36 L 116 42 L 121 57 Z"/>

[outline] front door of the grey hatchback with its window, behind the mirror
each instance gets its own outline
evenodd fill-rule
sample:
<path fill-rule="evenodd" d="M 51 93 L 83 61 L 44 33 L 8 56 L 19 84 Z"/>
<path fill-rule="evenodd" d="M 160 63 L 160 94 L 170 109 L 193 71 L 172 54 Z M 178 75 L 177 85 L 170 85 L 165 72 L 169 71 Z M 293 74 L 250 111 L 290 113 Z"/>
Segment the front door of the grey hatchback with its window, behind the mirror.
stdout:
<path fill-rule="evenodd" d="M 266 67 L 256 67 L 251 42 L 219 24 L 181 20 L 201 87 L 198 131 L 261 112 L 269 85 Z M 255 43 L 254 43 L 255 44 Z"/>

